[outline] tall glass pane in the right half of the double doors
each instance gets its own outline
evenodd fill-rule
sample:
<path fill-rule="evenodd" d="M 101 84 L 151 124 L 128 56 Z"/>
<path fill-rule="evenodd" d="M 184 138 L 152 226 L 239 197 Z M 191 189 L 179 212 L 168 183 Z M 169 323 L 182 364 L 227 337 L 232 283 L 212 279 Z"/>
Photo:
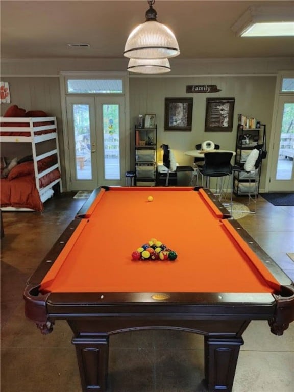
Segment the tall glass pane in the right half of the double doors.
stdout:
<path fill-rule="evenodd" d="M 104 176 L 120 180 L 119 105 L 103 104 Z"/>

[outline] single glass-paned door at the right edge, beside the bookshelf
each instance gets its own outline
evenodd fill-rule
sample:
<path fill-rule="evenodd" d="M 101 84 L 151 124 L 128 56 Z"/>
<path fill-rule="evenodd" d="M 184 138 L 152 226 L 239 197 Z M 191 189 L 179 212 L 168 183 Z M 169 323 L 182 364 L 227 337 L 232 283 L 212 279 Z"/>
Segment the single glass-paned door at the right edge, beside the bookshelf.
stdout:
<path fill-rule="evenodd" d="M 272 151 L 270 192 L 294 191 L 294 96 L 280 96 Z"/>

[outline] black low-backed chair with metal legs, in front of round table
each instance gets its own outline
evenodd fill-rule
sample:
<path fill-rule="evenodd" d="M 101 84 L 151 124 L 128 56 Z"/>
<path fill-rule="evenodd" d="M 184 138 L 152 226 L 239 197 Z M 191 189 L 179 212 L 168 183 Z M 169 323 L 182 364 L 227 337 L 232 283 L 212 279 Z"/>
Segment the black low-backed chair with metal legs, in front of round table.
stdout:
<path fill-rule="evenodd" d="M 202 167 L 202 175 L 206 177 L 206 188 L 210 187 L 210 178 L 216 177 L 216 189 L 215 194 L 219 195 L 221 201 L 224 194 L 224 178 L 228 177 L 230 180 L 230 206 L 231 213 L 233 209 L 233 166 L 231 165 L 231 159 L 233 157 L 232 152 L 219 152 L 219 153 L 205 153 L 204 154 L 204 165 Z M 218 188 L 218 180 L 220 182 Z M 229 181 L 228 181 L 229 182 Z M 226 188 L 226 194 L 229 186 Z"/>

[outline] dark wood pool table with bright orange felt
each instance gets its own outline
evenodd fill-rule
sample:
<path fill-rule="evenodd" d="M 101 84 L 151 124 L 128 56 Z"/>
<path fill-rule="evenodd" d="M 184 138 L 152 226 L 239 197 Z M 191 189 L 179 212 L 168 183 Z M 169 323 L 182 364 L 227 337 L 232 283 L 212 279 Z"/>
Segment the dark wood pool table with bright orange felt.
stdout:
<path fill-rule="evenodd" d="M 152 238 L 176 260 L 132 260 Z M 229 392 L 250 321 L 282 335 L 294 320 L 293 282 L 209 190 L 193 187 L 95 189 L 24 300 L 42 333 L 68 322 L 83 391 L 107 390 L 111 334 L 165 328 L 203 335 L 205 387 Z"/>

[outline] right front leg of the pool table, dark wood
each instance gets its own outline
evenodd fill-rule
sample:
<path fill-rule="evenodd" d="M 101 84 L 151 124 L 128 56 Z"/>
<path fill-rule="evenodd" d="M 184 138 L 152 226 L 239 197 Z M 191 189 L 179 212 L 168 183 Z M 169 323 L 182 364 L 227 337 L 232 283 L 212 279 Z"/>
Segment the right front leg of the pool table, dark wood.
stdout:
<path fill-rule="evenodd" d="M 209 392 L 231 392 L 242 344 L 241 337 L 204 337 L 205 379 Z"/>

